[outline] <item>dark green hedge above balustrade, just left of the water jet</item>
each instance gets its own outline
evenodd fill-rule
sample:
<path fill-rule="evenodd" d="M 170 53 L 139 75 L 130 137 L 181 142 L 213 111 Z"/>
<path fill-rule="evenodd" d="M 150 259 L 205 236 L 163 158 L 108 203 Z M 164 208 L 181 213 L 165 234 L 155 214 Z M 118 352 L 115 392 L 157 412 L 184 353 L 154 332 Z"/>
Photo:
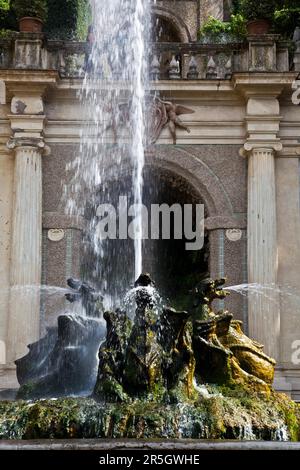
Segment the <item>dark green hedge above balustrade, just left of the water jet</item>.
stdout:
<path fill-rule="evenodd" d="M 45 31 L 51 39 L 85 40 L 91 11 L 88 0 L 48 0 Z"/>

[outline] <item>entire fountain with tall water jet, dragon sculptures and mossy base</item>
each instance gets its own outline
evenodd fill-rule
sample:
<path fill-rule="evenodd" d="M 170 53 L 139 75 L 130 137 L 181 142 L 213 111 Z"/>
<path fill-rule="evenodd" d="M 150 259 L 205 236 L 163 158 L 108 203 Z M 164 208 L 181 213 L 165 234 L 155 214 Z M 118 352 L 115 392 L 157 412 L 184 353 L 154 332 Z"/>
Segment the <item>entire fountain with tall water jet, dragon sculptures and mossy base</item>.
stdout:
<path fill-rule="evenodd" d="M 0 402 L 0 439 L 299 440 L 298 405 L 272 390 L 275 361 L 231 313 L 213 309 L 229 295 L 225 279 L 199 282 L 178 311 L 140 274 L 148 2 L 92 4 L 81 91 L 87 124 L 65 188 L 68 213 L 88 219 L 85 280 L 69 279 L 66 293 L 80 313 L 60 315 L 16 361 L 21 387 L 18 400 Z M 157 96 L 154 104 L 176 143 L 176 127 L 189 131 L 178 116 L 193 110 Z M 128 160 L 132 184 L 123 188 Z M 98 207 L 123 190 L 134 203 L 135 237 L 117 247 L 99 230 Z"/>

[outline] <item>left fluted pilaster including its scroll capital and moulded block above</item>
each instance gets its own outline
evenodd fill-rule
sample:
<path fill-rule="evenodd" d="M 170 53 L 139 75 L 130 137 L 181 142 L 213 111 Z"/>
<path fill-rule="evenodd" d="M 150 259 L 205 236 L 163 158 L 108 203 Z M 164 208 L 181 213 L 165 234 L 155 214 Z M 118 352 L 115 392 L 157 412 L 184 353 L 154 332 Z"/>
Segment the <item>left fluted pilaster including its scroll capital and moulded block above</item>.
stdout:
<path fill-rule="evenodd" d="M 56 74 L 6 71 L 2 79 L 10 103 L 7 117 L 12 134 L 7 148 L 14 157 L 6 340 L 6 369 L 11 375 L 13 362 L 40 337 L 42 156 L 49 154 L 44 141 L 44 96 Z"/>

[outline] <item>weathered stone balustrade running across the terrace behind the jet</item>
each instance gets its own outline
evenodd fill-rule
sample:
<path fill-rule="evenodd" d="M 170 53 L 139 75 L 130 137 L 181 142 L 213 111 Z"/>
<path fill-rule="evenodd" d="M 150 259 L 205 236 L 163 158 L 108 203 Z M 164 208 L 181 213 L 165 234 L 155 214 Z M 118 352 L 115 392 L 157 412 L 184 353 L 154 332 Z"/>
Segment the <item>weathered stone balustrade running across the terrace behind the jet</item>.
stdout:
<path fill-rule="evenodd" d="M 291 57 L 290 45 L 277 35 L 227 44 L 156 43 L 150 47 L 149 73 L 153 80 L 195 80 L 229 79 L 234 72 L 287 72 L 300 63 L 299 48 Z M 85 42 L 47 40 L 43 34 L 16 33 L 0 40 L 0 69 L 56 70 L 62 78 L 81 78 L 93 69 L 90 47 Z"/>

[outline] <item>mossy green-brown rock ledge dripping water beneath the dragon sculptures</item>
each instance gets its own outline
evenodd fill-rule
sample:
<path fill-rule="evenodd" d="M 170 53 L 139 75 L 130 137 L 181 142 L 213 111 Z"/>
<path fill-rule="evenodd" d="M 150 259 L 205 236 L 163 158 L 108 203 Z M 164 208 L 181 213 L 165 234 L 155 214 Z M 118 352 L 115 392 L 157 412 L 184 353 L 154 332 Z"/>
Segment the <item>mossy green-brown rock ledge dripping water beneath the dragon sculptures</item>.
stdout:
<path fill-rule="evenodd" d="M 158 404 L 91 398 L 0 403 L 1 439 L 300 439 L 300 407 L 285 395 L 210 386 L 196 401 Z"/>

